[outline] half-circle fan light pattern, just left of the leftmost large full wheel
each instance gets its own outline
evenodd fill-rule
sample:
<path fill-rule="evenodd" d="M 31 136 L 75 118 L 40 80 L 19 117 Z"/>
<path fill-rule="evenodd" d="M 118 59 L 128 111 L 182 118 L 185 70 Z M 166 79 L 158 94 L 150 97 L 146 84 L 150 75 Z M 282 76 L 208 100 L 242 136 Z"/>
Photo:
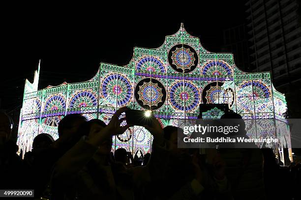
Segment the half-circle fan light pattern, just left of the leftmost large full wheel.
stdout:
<path fill-rule="evenodd" d="M 78 108 L 78 107 L 88 107 L 88 106 L 97 106 L 96 95 L 90 90 L 82 90 L 70 98 L 69 107 Z"/>

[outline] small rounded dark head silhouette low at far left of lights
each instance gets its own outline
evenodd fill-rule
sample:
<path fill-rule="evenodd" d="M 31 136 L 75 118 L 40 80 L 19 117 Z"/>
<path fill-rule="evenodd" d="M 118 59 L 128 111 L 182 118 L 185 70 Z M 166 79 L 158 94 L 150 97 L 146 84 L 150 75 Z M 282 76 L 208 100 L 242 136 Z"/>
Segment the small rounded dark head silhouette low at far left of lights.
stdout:
<path fill-rule="evenodd" d="M 32 152 L 41 152 L 49 148 L 52 143 L 54 143 L 54 139 L 51 135 L 47 133 L 38 134 L 32 142 Z"/>

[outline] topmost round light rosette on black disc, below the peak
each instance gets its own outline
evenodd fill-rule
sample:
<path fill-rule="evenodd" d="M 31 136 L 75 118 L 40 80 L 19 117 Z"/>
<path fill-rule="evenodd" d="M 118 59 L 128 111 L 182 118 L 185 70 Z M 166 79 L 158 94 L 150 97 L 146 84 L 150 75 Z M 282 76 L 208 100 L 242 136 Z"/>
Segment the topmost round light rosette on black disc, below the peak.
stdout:
<path fill-rule="evenodd" d="M 169 50 L 168 62 L 177 72 L 190 73 L 196 69 L 199 58 L 196 50 L 192 47 L 179 44 Z"/>

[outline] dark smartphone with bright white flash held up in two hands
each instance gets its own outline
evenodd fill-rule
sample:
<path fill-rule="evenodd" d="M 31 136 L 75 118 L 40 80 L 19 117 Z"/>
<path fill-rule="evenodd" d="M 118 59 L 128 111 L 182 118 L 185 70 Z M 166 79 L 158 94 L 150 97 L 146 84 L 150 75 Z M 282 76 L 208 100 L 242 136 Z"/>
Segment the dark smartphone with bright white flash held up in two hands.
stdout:
<path fill-rule="evenodd" d="M 128 125 L 151 125 L 152 115 L 149 110 L 127 110 L 125 111 L 125 120 Z"/>

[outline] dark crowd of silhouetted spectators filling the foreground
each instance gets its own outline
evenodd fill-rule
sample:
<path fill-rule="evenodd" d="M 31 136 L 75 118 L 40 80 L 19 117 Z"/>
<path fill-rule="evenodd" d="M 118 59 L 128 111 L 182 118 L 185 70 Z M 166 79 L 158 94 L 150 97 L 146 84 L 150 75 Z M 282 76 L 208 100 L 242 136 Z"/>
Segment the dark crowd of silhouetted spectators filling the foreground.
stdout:
<path fill-rule="evenodd" d="M 301 164 L 281 167 L 271 149 L 178 148 L 179 127 L 143 125 L 153 136 L 143 159 L 125 149 L 111 152 L 122 107 L 108 125 L 81 114 L 65 116 L 59 139 L 38 134 L 24 158 L 10 140 L 13 122 L 0 113 L 0 189 L 34 190 L 49 200 L 274 200 L 300 199 Z M 224 119 L 240 119 L 236 113 Z"/>

